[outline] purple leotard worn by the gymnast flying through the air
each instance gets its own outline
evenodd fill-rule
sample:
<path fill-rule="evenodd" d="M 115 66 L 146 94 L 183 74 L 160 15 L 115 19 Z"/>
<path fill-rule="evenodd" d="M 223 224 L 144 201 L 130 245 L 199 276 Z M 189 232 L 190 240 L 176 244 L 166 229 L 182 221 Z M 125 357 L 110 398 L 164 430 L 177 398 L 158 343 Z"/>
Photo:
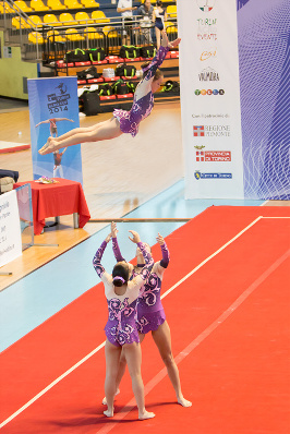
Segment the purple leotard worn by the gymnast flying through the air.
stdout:
<path fill-rule="evenodd" d="M 161 46 L 150 64 L 144 70 L 147 73 L 136 87 L 131 110 L 113 110 L 112 116 L 119 120 L 122 133 L 130 133 L 134 137 L 138 132 L 140 122 L 150 114 L 154 106 L 152 82 L 168 50 L 168 47 Z"/>

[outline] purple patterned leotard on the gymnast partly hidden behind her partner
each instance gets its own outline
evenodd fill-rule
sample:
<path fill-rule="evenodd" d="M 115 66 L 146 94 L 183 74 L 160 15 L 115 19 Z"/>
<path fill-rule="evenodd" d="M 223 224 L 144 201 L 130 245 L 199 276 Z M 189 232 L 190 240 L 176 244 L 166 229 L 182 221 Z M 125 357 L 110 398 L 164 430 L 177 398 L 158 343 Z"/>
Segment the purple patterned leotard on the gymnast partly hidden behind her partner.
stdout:
<path fill-rule="evenodd" d="M 112 248 L 116 260 L 124 261 L 121 255 L 117 238 L 112 239 Z M 140 291 L 137 300 L 137 329 L 142 334 L 156 330 L 165 320 L 165 311 L 160 299 L 164 272 L 169 264 L 169 251 L 166 243 L 161 245 L 162 260 L 154 264 L 148 280 Z M 137 265 L 133 277 L 138 275 L 143 265 Z M 141 267 L 141 268 L 140 268 Z"/>

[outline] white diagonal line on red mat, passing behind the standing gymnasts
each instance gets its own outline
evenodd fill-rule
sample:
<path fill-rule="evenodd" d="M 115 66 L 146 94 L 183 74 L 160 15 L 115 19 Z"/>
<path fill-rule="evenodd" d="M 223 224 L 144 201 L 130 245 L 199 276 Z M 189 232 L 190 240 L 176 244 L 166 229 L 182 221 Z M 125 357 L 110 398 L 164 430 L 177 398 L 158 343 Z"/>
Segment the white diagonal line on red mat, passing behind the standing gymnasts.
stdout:
<path fill-rule="evenodd" d="M 257 221 L 259 221 L 263 218 L 263 216 L 258 216 L 255 220 L 253 220 L 250 225 L 247 225 L 244 229 L 242 229 L 237 236 L 234 236 L 231 240 L 229 240 L 226 244 L 223 244 L 220 249 L 218 249 L 215 253 L 213 253 L 210 256 L 208 256 L 206 260 L 204 260 L 200 265 L 197 265 L 194 269 L 192 269 L 186 276 L 184 276 L 182 279 L 180 279 L 176 285 L 173 285 L 171 288 L 169 288 L 162 296 L 161 299 L 164 299 L 166 296 L 168 296 L 170 292 L 172 292 L 179 285 L 183 284 L 184 280 L 186 280 L 189 277 L 191 277 L 197 269 L 200 269 L 203 265 L 205 265 L 208 261 L 210 261 L 213 257 L 215 257 L 218 253 L 220 253 L 222 250 L 225 250 L 228 245 L 230 245 L 233 241 L 235 241 L 239 237 L 241 237 L 247 229 L 250 229 L 252 226 L 254 226 Z M 97 348 L 95 348 L 90 353 L 85 355 L 82 360 L 80 360 L 76 364 L 74 364 L 72 367 L 70 367 L 68 371 L 65 371 L 62 375 L 60 375 L 57 379 L 55 379 L 52 383 L 50 383 L 46 388 L 44 388 L 39 394 L 37 394 L 34 398 L 32 398 L 29 401 L 27 401 L 23 407 L 21 407 L 17 411 L 15 411 L 13 414 L 11 414 L 7 420 L 0 423 L 0 429 L 7 425 L 9 422 L 11 422 L 14 418 L 16 418 L 20 413 L 22 413 L 26 408 L 28 408 L 32 403 L 34 403 L 37 399 L 39 399 L 43 395 L 45 395 L 48 390 L 50 390 L 56 384 L 58 384 L 61 379 L 63 379 L 65 376 L 68 376 L 71 372 L 73 372 L 76 367 L 78 367 L 81 364 L 86 362 L 92 355 L 97 353 L 102 347 L 105 347 L 105 341 L 100 343 Z"/>

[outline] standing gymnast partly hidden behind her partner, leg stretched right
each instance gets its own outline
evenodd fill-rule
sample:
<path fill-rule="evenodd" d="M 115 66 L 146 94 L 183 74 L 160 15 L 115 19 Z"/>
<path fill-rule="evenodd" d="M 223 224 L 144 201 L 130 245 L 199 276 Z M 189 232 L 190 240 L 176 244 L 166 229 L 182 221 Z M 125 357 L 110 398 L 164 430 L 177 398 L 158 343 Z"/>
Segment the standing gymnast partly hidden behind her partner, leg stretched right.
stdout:
<path fill-rule="evenodd" d="M 111 225 L 112 248 L 117 261 L 124 261 L 119 244 L 117 241 L 117 226 L 114 222 Z M 140 291 L 137 300 L 137 320 L 136 326 L 140 333 L 140 341 L 142 342 L 146 334 L 152 331 L 153 339 L 159 350 L 161 359 L 167 367 L 168 376 L 174 388 L 178 403 L 183 407 L 191 407 L 192 402 L 183 397 L 180 385 L 179 370 L 174 362 L 171 351 L 171 336 L 170 328 L 166 321 L 164 306 L 160 300 L 161 282 L 166 268 L 169 264 L 169 251 L 164 238 L 158 233 L 156 237 L 157 242 L 161 248 L 162 260 L 156 262 L 152 268 L 149 278 L 144 282 L 144 287 Z M 150 246 L 144 243 L 147 253 L 150 253 Z M 137 246 L 136 250 L 137 265 L 133 268 L 133 277 L 138 276 L 144 267 L 143 252 Z M 120 366 L 117 376 L 114 395 L 119 394 L 119 385 L 125 371 L 125 358 L 123 354 L 120 359 Z M 102 401 L 106 403 L 106 400 Z"/>

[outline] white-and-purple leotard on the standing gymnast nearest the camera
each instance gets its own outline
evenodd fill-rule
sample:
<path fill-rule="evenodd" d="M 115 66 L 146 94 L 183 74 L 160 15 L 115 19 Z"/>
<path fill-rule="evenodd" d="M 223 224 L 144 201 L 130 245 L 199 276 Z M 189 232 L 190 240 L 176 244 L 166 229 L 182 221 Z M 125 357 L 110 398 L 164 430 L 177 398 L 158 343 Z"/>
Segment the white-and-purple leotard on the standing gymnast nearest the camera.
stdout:
<path fill-rule="evenodd" d="M 118 296 L 114 292 L 112 276 L 109 275 L 100 264 L 106 246 L 107 242 L 104 241 L 93 260 L 93 265 L 99 278 L 104 282 L 105 294 L 108 303 L 109 317 L 105 326 L 106 336 L 111 343 L 118 347 L 124 343 L 138 342 L 140 339 L 136 327 L 137 297 L 140 289 L 149 277 L 154 261 L 150 254 L 146 251 L 144 244 L 141 242 L 137 243 L 137 246 L 144 255 L 146 265 L 142 268 L 138 276 L 135 276 L 132 280 L 128 281 L 125 293 Z"/>

